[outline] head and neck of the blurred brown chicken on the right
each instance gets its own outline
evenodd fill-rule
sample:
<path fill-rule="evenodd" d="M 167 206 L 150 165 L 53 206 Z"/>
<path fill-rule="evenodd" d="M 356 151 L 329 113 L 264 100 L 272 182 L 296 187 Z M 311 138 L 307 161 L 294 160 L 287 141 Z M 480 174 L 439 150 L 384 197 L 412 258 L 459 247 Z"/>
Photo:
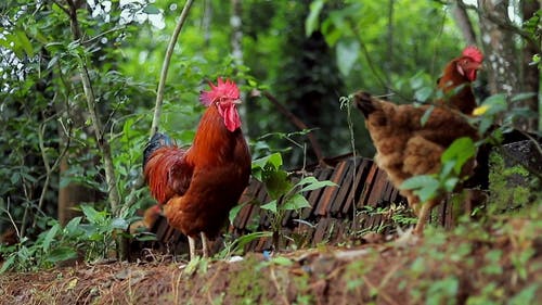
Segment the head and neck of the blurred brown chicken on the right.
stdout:
<path fill-rule="evenodd" d="M 477 72 L 481 67 L 483 54 L 476 47 L 467 47 L 460 58 L 453 59 L 444 67 L 437 87 L 444 93 L 444 98 L 437 103 L 448 104 L 466 115 L 470 115 L 476 107 L 476 99 L 470 82 L 476 80 Z"/>

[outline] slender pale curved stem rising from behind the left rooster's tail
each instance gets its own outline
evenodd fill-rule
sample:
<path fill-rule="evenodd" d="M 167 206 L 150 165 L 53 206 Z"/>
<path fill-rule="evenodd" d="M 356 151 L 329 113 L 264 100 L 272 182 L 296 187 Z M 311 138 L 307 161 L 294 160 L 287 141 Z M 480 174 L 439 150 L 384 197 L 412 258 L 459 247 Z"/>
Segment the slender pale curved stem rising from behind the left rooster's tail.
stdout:
<path fill-rule="evenodd" d="M 191 7 L 192 7 L 192 0 L 186 0 L 186 3 L 184 3 L 184 8 L 182 9 L 181 12 L 181 17 L 179 18 L 179 23 L 177 23 L 177 26 L 173 30 L 173 35 L 171 36 L 168 48 L 166 50 L 166 56 L 164 58 L 164 63 L 162 65 L 158 90 L 156 91 L 156 105 L 154 106 L 153 124 L 151 126 L 151 137 L 158 131 L 158 125 L 160 124 L 160 115 L 162 115 L 162 104 L 164 103 L 164 89 L 166 87 L 166 78 L 168 75 L 169 63 L 171 61 L 171 55 L 173 54 L 175 45 L 177 43 L 177 39 L 179 37 L 179 34 L 181 33 L 184 22 L 186 21 Z"/>

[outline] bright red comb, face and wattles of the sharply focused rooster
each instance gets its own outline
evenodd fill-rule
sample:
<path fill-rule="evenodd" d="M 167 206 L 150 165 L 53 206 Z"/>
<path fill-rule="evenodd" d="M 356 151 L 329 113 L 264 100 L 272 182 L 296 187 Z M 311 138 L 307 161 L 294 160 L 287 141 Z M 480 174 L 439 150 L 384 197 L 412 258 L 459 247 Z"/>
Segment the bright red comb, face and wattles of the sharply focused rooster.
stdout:
<path fill-rule="evenodd" d="M 202 91 L 199 101 L 205 106 L 215 104 L 224 119 L 225 128 L 230 131 L 241 127 L 241 118 L 237 113 L 237 104 L 241 104 L 237 85 L 230 79 L 225 81 L 218 78 L 217 85 L 209 82 L 210 90 Z"/>

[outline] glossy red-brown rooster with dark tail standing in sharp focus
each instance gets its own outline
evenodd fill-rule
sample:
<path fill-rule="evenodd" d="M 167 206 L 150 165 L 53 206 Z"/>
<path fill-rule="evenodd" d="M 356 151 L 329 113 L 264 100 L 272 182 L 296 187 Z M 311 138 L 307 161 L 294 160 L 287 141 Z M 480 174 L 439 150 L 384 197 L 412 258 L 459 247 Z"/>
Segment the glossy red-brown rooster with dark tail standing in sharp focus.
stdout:
<path fill-rule="evenodd" d="M 210 90 L 199 96 L 207 110 L 192 147 L 178 148 L 169 137 L 156 134 L 143 153 L 151 194 L 164 205 L 169 224 L 188 237 L 191 259 L 197 236 L 203 256 L 208 257 L 208 238 L 218 234 L 250 175 L 250 153 L 236 109 L 240 90 L 221 78 L 217 86 L 209 85 Z"/>

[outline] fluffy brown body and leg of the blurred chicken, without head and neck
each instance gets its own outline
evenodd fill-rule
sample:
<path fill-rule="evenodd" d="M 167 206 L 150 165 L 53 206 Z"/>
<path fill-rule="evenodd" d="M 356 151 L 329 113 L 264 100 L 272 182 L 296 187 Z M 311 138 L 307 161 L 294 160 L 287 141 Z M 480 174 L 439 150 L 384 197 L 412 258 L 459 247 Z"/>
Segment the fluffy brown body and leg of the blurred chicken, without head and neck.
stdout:
<path fill-rule="evenodd" d="M 396 105 L 366 92 L 357 92 L 353 100 L 365 117 L 365 126 L 376 148 L 374 160 L 398 189 L 413 176 L 439 173 L 440 156 L 455 139 L 478 139 L 477 130 L 467 123 L 463 114 L 454 110 L 436 106 L 428 120 L 422 124 L 422 117 L 429 105 Z M 469 175 L 473 168 L 472 160 L 465 163 L 462 171 Z M 423 233 L 427 216 L 440 203 L 443 194 L 428 202 L 421 202 L 412 190 L 400 190 L 400 193 L 417 215 L 414 232 Z"/>

